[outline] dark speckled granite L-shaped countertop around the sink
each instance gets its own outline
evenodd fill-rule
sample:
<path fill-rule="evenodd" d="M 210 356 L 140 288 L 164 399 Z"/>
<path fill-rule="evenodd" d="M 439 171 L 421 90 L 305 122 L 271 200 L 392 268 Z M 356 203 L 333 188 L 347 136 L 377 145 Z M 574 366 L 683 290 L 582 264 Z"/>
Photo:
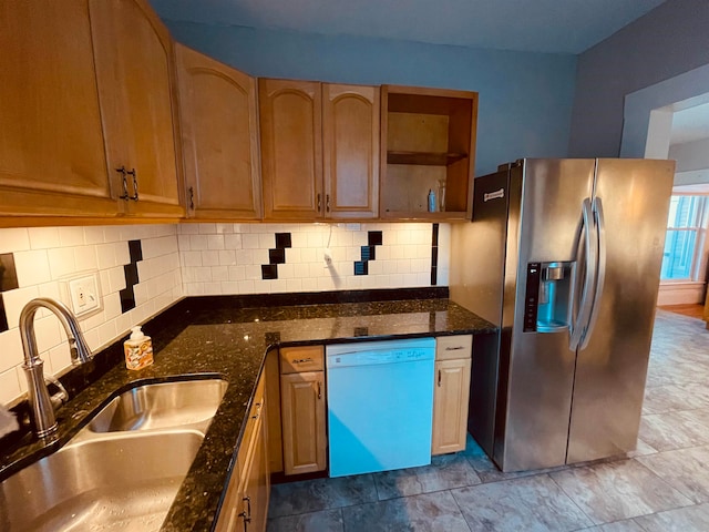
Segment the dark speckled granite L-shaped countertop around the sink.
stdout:
<path fill-rule="evenodd" d="M 297 295 L 295 295 L 297 296 Z M 431 297 L 429 295 L 429 297 Z M 144 325 L 153 337 L 155 362 L 129 371 L 121 342 L 97 356 L 94 367 L 79 367 L 66 386 L 82 391 L 58 412 L 51 441 L 28 434 L 13 452 L 0 457 L 0 480 L 68 442 L 88 415 L 138 382 L 220 376 L 229 386 L 162 530 L 210 530 L 228 480 L 233 457 L 266 352 L 284 345 L 335 344 L 393 337 L 494 331 L 492 324 L 446 298 L 248 307 L 256 299 L 186 298 Z M 308 297 L 296 300 L 308 301 Z M 246 303 L 245 303 L 246 301 Z M 73 379 L 73 380 L 72 380 Z"/>

